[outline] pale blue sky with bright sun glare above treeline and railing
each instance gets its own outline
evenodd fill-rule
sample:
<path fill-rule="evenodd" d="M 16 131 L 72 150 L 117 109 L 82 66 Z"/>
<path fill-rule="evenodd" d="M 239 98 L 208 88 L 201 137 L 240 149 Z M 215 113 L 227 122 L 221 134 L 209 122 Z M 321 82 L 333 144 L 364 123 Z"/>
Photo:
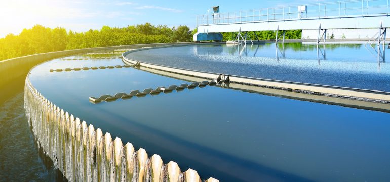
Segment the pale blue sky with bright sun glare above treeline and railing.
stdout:
<path fill-rule="evenodd" d="M 103 0 L 13 0 L 0 3 L 0 37 L 18 34 L 35 24 L 87 31 L 103 25 L 125 27 L 149 22 L 169 27 L 196 27 L 196 15 L 206 14 L 212 6 L 220 12 L 317 3 L 321 0 L 274 1 L 103 1 Z M 6 1 L 6 2 L 5 2 Z M 212 10 L 211 10 L 212 11 Z"/>

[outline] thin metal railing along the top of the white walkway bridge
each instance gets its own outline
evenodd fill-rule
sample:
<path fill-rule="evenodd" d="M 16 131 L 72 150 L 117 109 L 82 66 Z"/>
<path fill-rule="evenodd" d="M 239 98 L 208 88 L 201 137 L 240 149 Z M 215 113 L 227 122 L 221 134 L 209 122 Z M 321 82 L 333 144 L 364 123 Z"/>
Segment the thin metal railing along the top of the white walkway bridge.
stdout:
<path fill-rule="evenodd" d="M 353 0 L 197 16 L 197 26 L 321 18 L 389 16 L 390 0 Z M 304 6 L 304 11 L 299 7 Z"/>

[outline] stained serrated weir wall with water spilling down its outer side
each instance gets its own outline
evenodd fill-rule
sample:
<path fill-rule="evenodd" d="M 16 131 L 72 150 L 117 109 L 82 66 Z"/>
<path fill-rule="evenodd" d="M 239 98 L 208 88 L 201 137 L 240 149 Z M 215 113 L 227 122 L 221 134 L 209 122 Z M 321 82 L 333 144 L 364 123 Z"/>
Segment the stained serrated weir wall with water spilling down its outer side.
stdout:
<path fill-rule="evenodd" d="M 38 145 L 69 181 L 201 181 L 192 169 L 181 172 L 177 163 L 164 164 L 131 143 L 87 125 L 40 94 L 28 77 L 24 108 Z M 218 181 L 209 178 L 207 182 Z"/>

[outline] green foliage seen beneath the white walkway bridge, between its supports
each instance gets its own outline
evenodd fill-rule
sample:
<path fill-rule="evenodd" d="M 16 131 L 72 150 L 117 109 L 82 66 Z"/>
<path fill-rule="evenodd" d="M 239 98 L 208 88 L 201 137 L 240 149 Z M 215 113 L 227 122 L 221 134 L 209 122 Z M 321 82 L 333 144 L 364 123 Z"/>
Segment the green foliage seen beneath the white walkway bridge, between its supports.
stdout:
<path fill-rule="evenodd" d="M 247 32 L 252 40 L 257 40 L 254 32 Z M 256 31 L 259 40 L 275 40 L 276 31 Z M 237 37 L 237 32 L 222 33 L 223 40 L 234 40 Z M 241 34 L 244 37 L 244 33 Z M 283 31 L 278 31 L 278 37 L 283 35 Z M 301 39 L 302 30 L 286 30 L 285 39 Z M 244 37 L 245 38 L 245 37 Z M 248 38 L 249 39 L 249 38 Z"/>

